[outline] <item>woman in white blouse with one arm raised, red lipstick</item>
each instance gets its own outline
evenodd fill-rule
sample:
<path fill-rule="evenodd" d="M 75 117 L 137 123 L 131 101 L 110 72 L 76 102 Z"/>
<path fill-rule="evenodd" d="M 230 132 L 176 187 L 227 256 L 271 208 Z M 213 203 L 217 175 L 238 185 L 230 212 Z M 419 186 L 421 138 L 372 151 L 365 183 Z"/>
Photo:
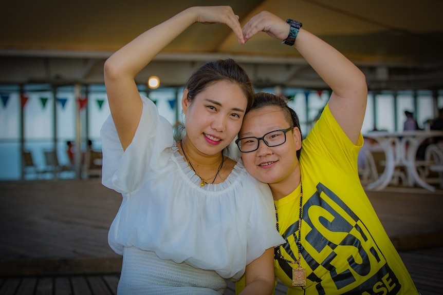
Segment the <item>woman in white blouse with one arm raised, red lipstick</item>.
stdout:
<path fill-rule="evenodd" d="M 246 273 L 244 293 L 274 285 L 272 196 L 225 149 L 252 104 L 245 71 L 232 60 L 209 62 L 182 97 L 186 132 L 177 140 L 135 75 L 194 23 L 228 25 L 243 44 L 230 7 L 191 7 L 139 35 L 104 66 L 111 115 L 104 123 L 103 179 L 122 204 L 108 241 L 123 255 L 119 294 L 217 294 L 225 278 Z"/>

